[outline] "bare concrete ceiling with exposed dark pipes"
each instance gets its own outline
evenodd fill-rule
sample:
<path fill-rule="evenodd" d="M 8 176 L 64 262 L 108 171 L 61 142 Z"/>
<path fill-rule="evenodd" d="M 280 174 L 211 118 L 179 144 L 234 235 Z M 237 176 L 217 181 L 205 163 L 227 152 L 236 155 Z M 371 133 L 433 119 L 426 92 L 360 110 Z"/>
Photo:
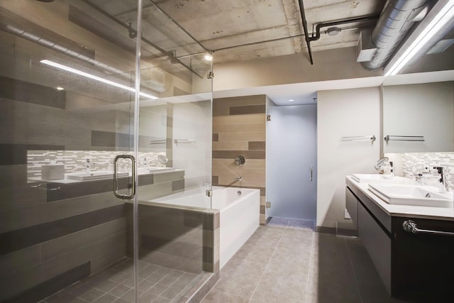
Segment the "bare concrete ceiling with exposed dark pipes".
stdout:
<path fill-rule="evenodd" d="M 70 10 L 70 20 L 93 28 L 96 16 L 109 14 L 110 23 L 131 23 L 135 28 L 134 0 L 68 0 L 83 13 Z M 315 26 L 329 21 L 376 16 L 384 0 L 322 0 L 304 3 L 310 35 Z M 103 22 L 97 19 L 98 22 Z M 326 50 L 356 45 L 361 28 L 375 26 L 376 20 L 345 23 L 338 35 L 326 35 L 311 48 Z M 109 37 L 108 31 L 99 35 Z M 214 52 L 215 62 L 307 53 L 299 0 L 143 0 L 143 37 L 160 48 L 148 48 L 148 56 L 175 52 L 185 57 Z M 123 45 L 133 47 L 123 40 Z M 146 43 L 145 43 L 146 44 Z M 149 47 L 151 45 L 148 45 Z M 144 55 L 147 57 L 147 54 Z"/>

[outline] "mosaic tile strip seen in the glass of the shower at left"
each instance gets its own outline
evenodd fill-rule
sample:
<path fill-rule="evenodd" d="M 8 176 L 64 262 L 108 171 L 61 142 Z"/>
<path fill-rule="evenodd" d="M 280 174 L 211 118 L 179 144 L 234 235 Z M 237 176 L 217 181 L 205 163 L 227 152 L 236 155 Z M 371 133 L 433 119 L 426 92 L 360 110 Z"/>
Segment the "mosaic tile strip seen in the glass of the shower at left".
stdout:
<path fill-rule="evenodd" d="M 41 177 L 41 167 L 48 164 L 63 164 L 65 172 L 84 172 L 87 159 L 90 170 L 114 170 L 114 158 L 123 152 L 105 150 L 28 150 L 28 177 Z M 128 153 L 126 153 L 128 154 Z M 158 155 L 165 153 L 139 153 L 138 167 L 165 167 L 157 161 Z M 131 170 L 131 161 L 118 161 L 119 171 Z"/>

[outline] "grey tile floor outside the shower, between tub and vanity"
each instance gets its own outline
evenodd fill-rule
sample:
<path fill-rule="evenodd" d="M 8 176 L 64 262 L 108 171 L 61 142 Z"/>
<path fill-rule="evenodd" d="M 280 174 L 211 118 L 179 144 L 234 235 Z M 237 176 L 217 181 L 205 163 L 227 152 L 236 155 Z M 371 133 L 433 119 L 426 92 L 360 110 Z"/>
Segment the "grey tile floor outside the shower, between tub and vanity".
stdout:
<path fill-rule="evenodd" d="M 355 303 L 391 299 L 358 238 L 314 232 L 314 221 L 273 218 L 220 272 L 202 303 Z"/>

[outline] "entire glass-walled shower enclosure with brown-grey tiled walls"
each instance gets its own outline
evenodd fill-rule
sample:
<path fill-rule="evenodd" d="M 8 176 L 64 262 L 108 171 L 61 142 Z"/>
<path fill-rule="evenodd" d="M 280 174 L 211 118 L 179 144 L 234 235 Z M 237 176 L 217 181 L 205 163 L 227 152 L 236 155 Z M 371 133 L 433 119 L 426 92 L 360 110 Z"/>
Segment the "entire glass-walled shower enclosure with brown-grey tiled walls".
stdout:
<path fill-rule="evenodd" d="M 216 280 L 211 61 L 167 2 L 0 1 L 0 302 L 196 302 Z"/>

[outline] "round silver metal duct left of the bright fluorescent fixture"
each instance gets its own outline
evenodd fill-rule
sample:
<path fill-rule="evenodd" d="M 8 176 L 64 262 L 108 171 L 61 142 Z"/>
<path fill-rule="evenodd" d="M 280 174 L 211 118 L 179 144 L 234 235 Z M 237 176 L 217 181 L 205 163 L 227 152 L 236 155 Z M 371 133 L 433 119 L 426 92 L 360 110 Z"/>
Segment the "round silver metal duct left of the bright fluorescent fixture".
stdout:
<path fill-rule="evenodd" d="M 361 62 L 367 70 L 382 67 L 402 42 L 404 36 L 416 21 L 430 0 L 388 0 L 372 32 L 372 43 L 377 50 L 372 60 Z"/>

